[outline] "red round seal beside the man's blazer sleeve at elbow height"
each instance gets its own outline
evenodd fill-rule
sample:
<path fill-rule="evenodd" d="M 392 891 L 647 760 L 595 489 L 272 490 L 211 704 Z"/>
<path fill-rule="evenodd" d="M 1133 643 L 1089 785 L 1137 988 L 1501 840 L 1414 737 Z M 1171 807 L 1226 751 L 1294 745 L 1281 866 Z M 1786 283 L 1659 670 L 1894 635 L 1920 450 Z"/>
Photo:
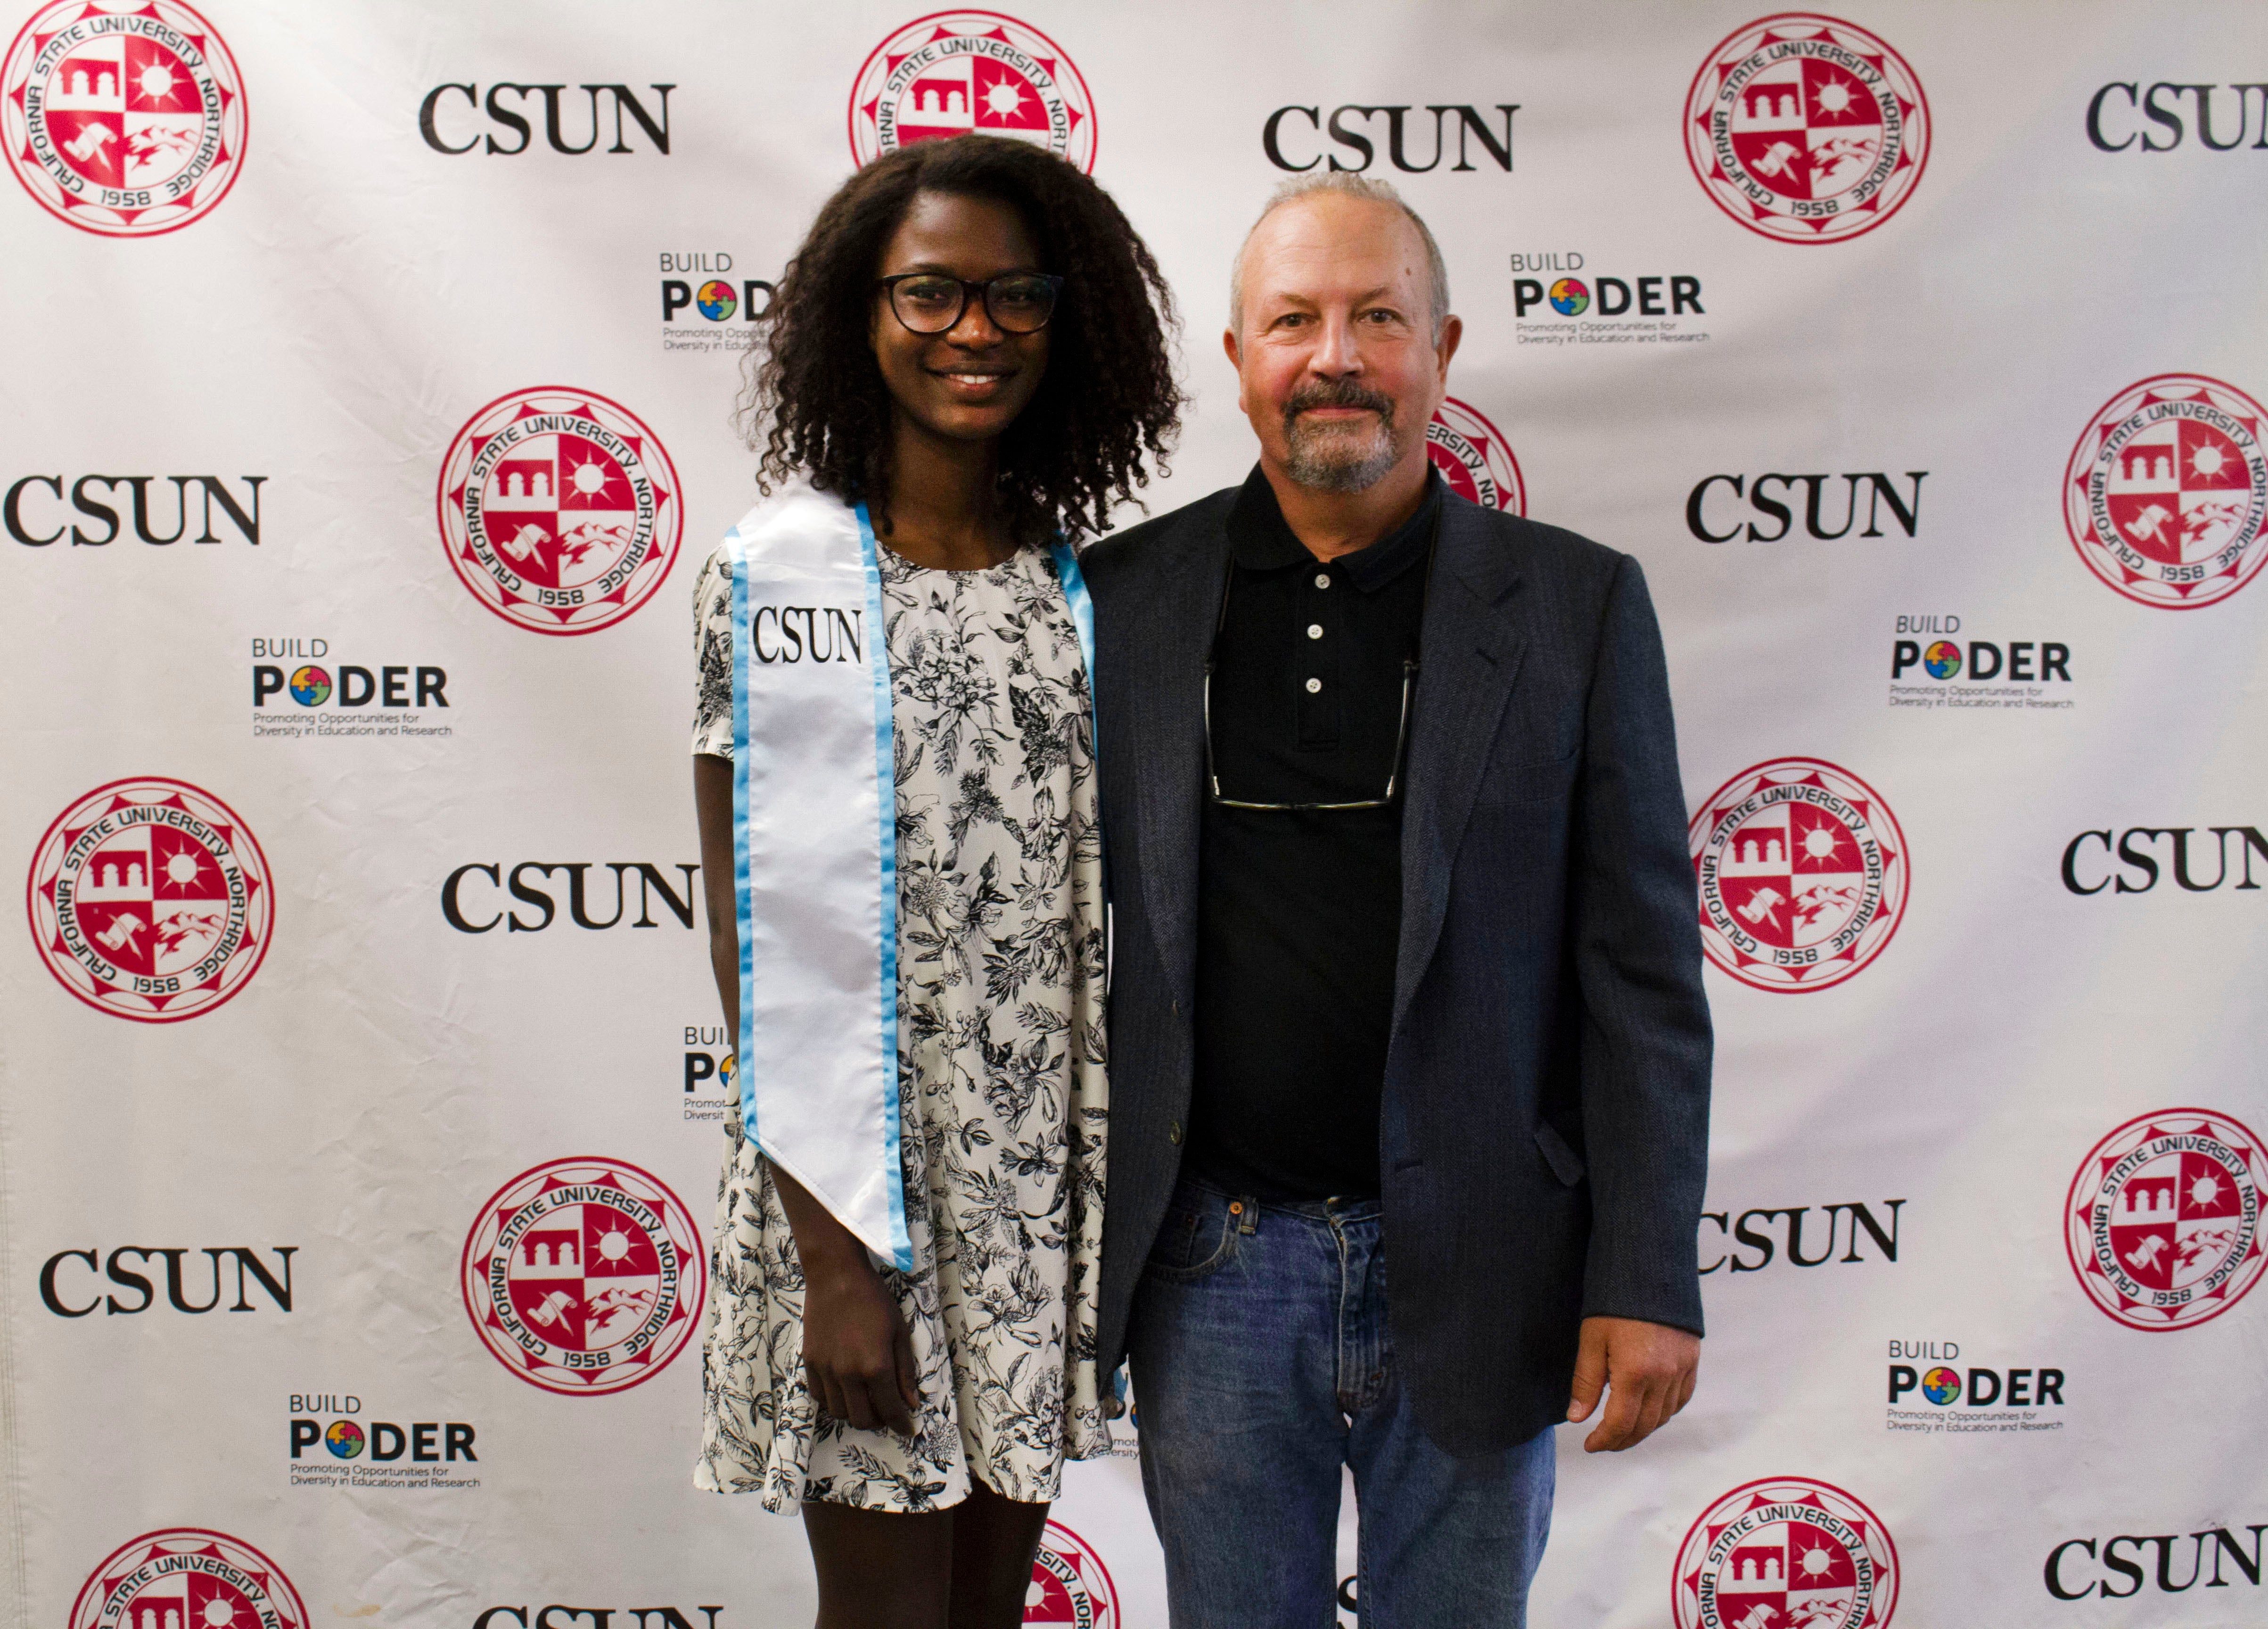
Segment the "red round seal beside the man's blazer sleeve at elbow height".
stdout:
<path fill-rule="evenodd" d="M 1823 758 L 1774 758 L 1717 787 L 1692 819 L 1701 948 L 1753 989 L 1839 985 L 1905 914 L 1905 833 Z"/>

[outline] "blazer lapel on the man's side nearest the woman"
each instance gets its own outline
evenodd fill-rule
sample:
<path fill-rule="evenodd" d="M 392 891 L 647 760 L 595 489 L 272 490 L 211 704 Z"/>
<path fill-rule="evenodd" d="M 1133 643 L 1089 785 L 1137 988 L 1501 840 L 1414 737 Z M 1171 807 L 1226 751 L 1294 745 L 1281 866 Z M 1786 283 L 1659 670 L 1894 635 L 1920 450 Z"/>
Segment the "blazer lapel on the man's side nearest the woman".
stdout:
<path fill-rule="evenodd" d="M 1150 932 L 1182 1010 L 1195 1001 L 1198 814 L 1204 796 L 1204 658 L 1220 617 L 1227 531 L 1218 520 L 1193 529 L 1175 558 L 1161 560 L 1157 599 L 1141 622 L 1127 721 L 1134 726 L 1141 889 Z"/>

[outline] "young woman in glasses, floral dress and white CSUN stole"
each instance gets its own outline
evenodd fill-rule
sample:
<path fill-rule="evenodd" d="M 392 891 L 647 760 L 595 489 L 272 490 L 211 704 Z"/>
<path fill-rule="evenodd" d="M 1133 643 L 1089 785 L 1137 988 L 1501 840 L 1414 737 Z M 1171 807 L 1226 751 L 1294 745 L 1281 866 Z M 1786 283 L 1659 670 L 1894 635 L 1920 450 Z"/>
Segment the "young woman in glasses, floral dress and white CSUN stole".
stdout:
<path fill-rule="evenodd" d="M 803 1511 L 821 1629 L 1021 1624 L 1061 1463 L 1109 1447 L 1066 538 L 1168 447 L 1170 322 L 1150 252 L 1061 159 L 996 136 L 875 159 L 780 284 L 744 402 L 769 497 L 694 588 L 694 801 L 746 1094 L 696 1484 Z"/>

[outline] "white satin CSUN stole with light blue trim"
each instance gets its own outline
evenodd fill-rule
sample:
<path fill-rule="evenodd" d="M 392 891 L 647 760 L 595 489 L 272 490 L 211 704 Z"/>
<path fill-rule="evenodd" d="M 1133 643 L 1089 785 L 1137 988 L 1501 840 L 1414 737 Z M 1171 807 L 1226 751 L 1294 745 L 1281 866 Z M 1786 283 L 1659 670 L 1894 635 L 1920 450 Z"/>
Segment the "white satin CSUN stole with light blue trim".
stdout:
<path fill-rule="evenodd" d="M 1052 545 L 1093 694 L 1093 608 Z M 805 483 L 726 538 L 739 1119 L 869 1250 L 912 1271 L 898 1157 L 898 794 L 866 506 Z"/>

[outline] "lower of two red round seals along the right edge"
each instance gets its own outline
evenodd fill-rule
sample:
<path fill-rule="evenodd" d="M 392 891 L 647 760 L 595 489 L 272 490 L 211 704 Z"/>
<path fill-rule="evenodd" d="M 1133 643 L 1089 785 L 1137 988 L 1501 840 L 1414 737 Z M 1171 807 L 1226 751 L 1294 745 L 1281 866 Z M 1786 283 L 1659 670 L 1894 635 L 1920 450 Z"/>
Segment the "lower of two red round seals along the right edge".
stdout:
<path fill-rule="evenodd" d="M 2214 1109 L 2159 1109 L 2096 1143 L 2071 1178 L 2064 1250 L 2130 1330 L 2189 1330 L 2250 1291 L 2261 1255 L 2261 1139 Z"/>

